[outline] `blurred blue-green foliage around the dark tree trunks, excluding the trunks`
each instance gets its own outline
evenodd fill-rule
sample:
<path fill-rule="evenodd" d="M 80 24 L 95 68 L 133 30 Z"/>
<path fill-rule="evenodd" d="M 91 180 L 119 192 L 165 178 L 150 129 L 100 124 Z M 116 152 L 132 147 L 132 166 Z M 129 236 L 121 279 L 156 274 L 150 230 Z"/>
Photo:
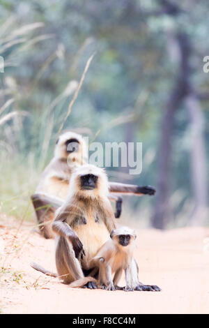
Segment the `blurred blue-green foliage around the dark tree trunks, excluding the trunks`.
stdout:
<path fill-rule="evenodd" d="M 17 112 L 0 126 L 3 211 L 23 215 L 40 172 L 52 158 L 72 97 L 66 87 L 72 80 L 79 81 L 93 52 L 65 129 L 88 128 L 92 138 L 101 129 L 97 140 L 102 142 L 143 142 L 143 172 L 132 178 L 136 184 L 155 186 L 162 112 L 176 77 L 175 49 L 168 51 L 168 33 L 177 29 L 188 33 L 194 46 L 192 78 L 200 91 L 207 91 L 209 85 L 202 69 L 209 51 L 208 1 L 178 4 L 183 14 L 173 18 L 167 13 L 157 15 L 161 9 L 157 0 L 0 1 L 0 54 L 5 61 L 0 106 L 14 99 L 0 110 L 0 119 Z M 207 119 L 208 101 L 201 105 Z M 111 126 L 114 119 L 130 114 L 133 121 Z M 205 136 L 208 140 L 207 120 Z M 185 224 L 192 201 L 189 147 L 187 112 L 182 105 L 173 141 L 171 202 L 176 219 L 171 226 Z M 125 173 L 117 175 L 112 169 L 109 175 L 131 182 Z M 12 197 L 16 198 L 11 204 Z M 153 198 L 132 197 L 124 207 L 130 202 L 137 211 L 124 211 L 123 216 L 145 216 L 148 224 Z"/>

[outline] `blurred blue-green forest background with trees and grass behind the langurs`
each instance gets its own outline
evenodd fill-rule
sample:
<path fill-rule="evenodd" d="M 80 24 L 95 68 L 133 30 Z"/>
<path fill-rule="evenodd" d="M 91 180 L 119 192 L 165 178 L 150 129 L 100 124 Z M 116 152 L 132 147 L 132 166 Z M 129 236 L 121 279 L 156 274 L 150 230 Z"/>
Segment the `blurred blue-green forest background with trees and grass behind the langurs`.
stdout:
<path fill-rule="evenodd" d="M 29 196 L 96 52 L 64 129 L 143 142 L 139 176 L 107 170 L 157 189 L 125 197 L 123 218 L 208 225 L 208 10 L 207 0 L 0 0 L 0 211 L 33 219 Z"/>

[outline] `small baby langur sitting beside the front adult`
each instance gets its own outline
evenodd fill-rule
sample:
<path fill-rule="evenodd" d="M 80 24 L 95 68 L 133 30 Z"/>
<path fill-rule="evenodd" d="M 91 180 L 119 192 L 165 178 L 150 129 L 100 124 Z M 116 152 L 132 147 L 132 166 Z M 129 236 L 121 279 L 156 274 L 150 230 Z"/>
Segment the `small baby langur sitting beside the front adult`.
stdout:
<path fill-rule="evenodd" d="M 144 285 L 138 281 L 137 263 L 133 258 L 137 234 L 127 227 L 111 231 L 109 239 L 98 251 L 92 262 L 99 267 L 98 285 L 106 290 L 123 289 L 160 291 L 156 285 Z M 125 271 L 125 288 L 118 287 L 121 275 Z M 112 279 L 114 274 L 114 279 Z"/>

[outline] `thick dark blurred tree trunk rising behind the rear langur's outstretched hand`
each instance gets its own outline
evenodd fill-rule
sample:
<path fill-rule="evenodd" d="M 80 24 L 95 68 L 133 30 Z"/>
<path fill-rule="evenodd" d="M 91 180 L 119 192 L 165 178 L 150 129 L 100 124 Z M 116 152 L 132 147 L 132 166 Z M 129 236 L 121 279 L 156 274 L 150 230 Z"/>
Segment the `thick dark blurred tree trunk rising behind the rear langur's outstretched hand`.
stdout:
<path fill-rule="evenodd" d="M 171 218 L 171 208 L 169 205 L 169 186 L 171 184 L 171 146 L 173 137 L 174 115 L 183 98 L 189 91 L 189 39 L 183 32 L 176 36 L 170 35 L 169 45 L 176 42 L 178 47 L 179 61 L 178 75 L 174 84 L 173 91 L 169 96 L 164 114 L 162 117 L 162 133 L 158 154 L 158 171 L 157 171 L 157 193 L 155 209 L 152 218 L 153 227 L 164 229 L 167 221 Z"/>

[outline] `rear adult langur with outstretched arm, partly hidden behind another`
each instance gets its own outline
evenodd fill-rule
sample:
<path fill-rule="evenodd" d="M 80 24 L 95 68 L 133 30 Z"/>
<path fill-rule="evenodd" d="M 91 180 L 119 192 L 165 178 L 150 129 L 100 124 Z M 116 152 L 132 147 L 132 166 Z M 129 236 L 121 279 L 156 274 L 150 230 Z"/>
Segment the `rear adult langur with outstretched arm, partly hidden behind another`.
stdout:
<path fill-rule="evenodd" d="M 45 238 L 53 238 L 52 221 L 54 211 L 61 207 L 68 196 L 68 187 L 72 170 L 85 164 L 87 157 L 86 142 L 82 135 L 65 132 L 59 136 L 54 149 L 54 158 L 42 172 L 35 194 L 31 196 L 40 233 Z M 150 186 L 136 186 L 109 182 L 109 199 L 116 201 L 115 217 L 121 215 L 123 195 L 154 195 Z"/>

